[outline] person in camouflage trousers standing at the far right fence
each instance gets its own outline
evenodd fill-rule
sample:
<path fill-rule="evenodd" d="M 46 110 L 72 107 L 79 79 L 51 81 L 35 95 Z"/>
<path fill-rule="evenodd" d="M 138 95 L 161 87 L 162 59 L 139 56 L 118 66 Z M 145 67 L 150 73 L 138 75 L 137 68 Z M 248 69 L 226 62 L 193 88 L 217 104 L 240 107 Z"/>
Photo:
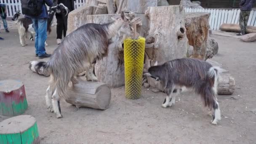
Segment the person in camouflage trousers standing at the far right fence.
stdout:
<path fill-rule="evenodd" d="M 237 35 L 245 35 L 245 30 L 247 27 L 247 22 L 250 16 L 251 9 L 255 0 L 241 0 L 240 5 L 240 18 L 239 18 L 239 26 L 241 28 L 241 32 Z"/>

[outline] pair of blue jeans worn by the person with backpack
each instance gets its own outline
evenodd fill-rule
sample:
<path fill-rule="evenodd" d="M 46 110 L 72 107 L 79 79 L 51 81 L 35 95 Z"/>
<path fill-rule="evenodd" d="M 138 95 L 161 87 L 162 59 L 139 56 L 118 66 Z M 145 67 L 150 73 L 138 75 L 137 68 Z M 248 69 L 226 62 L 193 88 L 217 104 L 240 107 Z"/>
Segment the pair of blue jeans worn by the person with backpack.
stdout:
<path fill-rule="evenodd" d="M 47 39 L 47 19 L 32 19 L 35 29 L 35 53 L 38 56 L 45 54 L 45 41 Z"/>

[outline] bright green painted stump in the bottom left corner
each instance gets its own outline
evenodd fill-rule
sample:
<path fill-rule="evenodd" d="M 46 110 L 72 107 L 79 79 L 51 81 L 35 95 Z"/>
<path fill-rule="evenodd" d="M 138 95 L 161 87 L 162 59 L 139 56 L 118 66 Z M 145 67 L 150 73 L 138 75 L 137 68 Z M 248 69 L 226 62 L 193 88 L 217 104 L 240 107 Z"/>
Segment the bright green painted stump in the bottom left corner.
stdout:
<path fill-rule="evenodd" d="M 40 144 L 35 117 L 19 115 L 0 122 L 0 144 Z"/>

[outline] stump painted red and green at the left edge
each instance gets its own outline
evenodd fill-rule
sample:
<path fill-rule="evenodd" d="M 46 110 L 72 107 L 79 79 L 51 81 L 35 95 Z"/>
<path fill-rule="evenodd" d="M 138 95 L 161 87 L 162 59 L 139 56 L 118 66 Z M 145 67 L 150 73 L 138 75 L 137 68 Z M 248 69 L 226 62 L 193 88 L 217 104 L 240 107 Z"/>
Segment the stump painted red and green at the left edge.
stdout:
<path fill-rule="evenodd" d="M 0 115 L 21 115 L 27 107 L 24 84 L 19 80 L 0 80 Z"/>

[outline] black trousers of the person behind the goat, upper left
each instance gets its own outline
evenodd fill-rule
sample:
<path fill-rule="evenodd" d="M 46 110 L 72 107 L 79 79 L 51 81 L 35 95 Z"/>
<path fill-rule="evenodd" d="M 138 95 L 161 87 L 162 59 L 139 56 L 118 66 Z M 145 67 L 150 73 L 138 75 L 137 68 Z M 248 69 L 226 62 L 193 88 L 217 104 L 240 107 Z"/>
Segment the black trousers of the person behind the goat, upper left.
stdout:
<path fill-rule="evenodd" d="M 62 39 L 62 34 L 66 37 L 67 32 L 67 16 L 62 16 L 56 13 L 57 19 L 57 39 Z"/>

